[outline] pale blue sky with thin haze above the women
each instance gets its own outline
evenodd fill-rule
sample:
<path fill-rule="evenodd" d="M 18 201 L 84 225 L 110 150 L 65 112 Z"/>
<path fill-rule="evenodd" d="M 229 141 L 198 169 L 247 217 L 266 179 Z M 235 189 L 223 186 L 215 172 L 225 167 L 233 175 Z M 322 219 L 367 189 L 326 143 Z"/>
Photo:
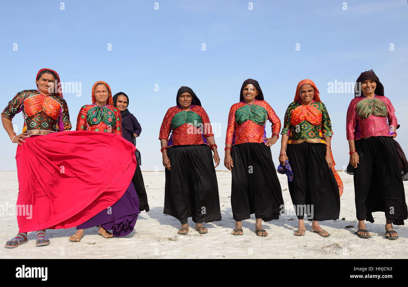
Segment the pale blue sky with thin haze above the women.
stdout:
<path fill-rule="evenodd" d="M 17 92 L 35 89 L 38 70 L 51 68 L 62 82 L 81 83 L 81 96 L 64 94 L 75 127 L 80 107 L 91 103 L 93 83 L 106 81 L 113 94 L 128 94 L 129 110 L 142 126 L 142 170 L 164 170 L 158 135 L 180 86 L 194 90 L 217 124 L 223 162 L 228 111 L 239 101 L 244 80 L 259 82 L 283 123 L 297 83 L 310 78 L 330 114 L 333 155 L 342 169 L 348 163 L 346 112 L 354 95 L 329 93 L 328 83 L 354 82 L 373 69 L 401 124 L 396 139 L 408 152 L 405 0 L 253 0 L 252 10 L 249 1 L 64 1 L 64 9 L 61 2 L 2 3 L 1 109 Z M 22 114 L 16 115 L 18 133 L 22 123 Z M 267 124 L 268 136 L 270 131 Z M 16 144 L 4 129 L 0 145 L 0 170 L 16 170 Z M 279 149 L 280 138 L 272 147 L 275 167 Z M 218 169 L 226 170 L 222 164 Z"/>

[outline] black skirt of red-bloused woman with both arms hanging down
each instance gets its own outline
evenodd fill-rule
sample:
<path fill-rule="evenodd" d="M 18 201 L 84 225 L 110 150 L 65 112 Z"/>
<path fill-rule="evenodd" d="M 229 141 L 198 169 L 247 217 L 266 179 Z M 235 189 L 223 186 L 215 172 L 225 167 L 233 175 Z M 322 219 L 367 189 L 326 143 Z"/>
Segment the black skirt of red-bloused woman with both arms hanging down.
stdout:
<path fill-rule="evenodd" d="M 166 169 L 163 213 L 182 224 L 188 217 L 196 223 L 220 221 L 217 176 L 208 145 L 171 146 L 167 156 L 171 170 Z"/>

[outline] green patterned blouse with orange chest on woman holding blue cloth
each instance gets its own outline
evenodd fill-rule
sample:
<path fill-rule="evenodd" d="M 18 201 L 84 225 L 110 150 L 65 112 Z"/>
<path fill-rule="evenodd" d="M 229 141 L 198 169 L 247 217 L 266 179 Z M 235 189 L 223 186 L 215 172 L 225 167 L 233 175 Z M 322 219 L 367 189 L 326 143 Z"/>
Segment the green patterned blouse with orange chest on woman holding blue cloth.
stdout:
<path fill-rule="evenodd" d="M 302 101 L 291 103 L 285 113 L 282 135 L 288 135 L 288 143 L 326 143 L 332 137 L 330 117 L 324 103 L 312 100 L 309 105 Z"/>

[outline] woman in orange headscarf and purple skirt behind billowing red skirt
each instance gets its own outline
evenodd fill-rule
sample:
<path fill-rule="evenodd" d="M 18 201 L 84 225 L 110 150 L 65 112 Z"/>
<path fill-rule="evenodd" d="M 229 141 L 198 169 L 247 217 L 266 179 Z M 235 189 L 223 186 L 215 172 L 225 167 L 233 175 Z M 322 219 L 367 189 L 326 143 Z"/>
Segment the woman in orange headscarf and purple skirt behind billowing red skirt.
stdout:
<path fill-rule="evenodd" d="M 118 135 L 114 136 L 115 139 L 121 142 L 121 148 L 123 152 L 129 151 L 129 154 L 133 156 L 133 163 L 128 167 L 133 175 L 136 169 L 135 161 L 135 147 L 122 138 L 122 121 L 120 116 L 120 110 L 113 106 L 113 99 L 111 93 L 111 87 L 104 81 L 96 82 L 92 87 L 92 104 L 84 105 L 77 119 L 76 130 L 83 130 L 88 132 L 105 132 L 109 134 Z M 107 136 L 107 135 L 106 135 Z M 107 137 L 106 141 L 108 143 L 113 142 L 114 139 Z M 120 148 L 118 146 L 118 148 Z M 105 155 L 98 154 L 97 157 L 113 156 L 115 155 Z M 101 168 L 110 168 L 109 166 L 103 166 Z M 115 168 L 115 166 L 111 166 Z M 99 226 L 98 234 L 103 238 L 122 237 L 128 235 L 133 231 L 135 226 L 137 215 L 139 211 L 139 198 L 135 187 L 131 182 L 131 178 L 126 179 L 129 182 L 129 187 L 122 191 L 122 197 L 115 202 L 108 209 L 102 210 L 100 213 L 93 216 L 90 220 L 77 226 L 77 231 L 74 235 L 69 238 L 71 242 L 79 242 L 84 234 L 84 229 Z M 117 179 L 121 181 L 120 178 Z M 109 232 L 112 230 L 113 232 Z"/>

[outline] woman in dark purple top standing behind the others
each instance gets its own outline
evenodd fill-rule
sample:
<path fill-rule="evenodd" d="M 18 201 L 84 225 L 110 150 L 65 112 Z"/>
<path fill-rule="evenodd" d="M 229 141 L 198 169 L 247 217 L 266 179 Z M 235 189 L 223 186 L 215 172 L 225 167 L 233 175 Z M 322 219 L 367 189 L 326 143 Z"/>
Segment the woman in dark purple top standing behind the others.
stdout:
<path fill-rule="evenodd" d="M 113 105 L 120 110 L 120 116 L 122 117 L 122 135 L 124 139 L 130 141 L 136 146 L 136 138 L 140 136 L 142 132 L 142 127 L 137 121 L 135 116 L 129 112 L 129 97 L 124 92 L 116 93 L 113 97 Z M 144 187 L 142 170 L 140 169 L 141 160 L 137 155 L 140 153 L 136 152 L 137 166 L 135 174 L 132 178 L 133 186 L 139 197 L 139 211 L 148 212 L 149 203 L 147 202 L 146 188 Z"/>

